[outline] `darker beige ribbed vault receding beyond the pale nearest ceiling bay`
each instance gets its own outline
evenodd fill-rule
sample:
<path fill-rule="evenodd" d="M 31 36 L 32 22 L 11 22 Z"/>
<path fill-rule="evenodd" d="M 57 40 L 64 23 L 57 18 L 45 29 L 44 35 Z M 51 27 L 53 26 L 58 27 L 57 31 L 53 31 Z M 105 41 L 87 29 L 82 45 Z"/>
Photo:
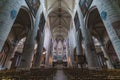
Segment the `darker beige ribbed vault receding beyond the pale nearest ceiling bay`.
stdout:
<path fill-rule="evenodd" d="M 49 14 L 51 32 L 53 38 L 62 36 L 65 38 L 68 35 L 71 16 L 62 8 L 58 8 Z"/>

